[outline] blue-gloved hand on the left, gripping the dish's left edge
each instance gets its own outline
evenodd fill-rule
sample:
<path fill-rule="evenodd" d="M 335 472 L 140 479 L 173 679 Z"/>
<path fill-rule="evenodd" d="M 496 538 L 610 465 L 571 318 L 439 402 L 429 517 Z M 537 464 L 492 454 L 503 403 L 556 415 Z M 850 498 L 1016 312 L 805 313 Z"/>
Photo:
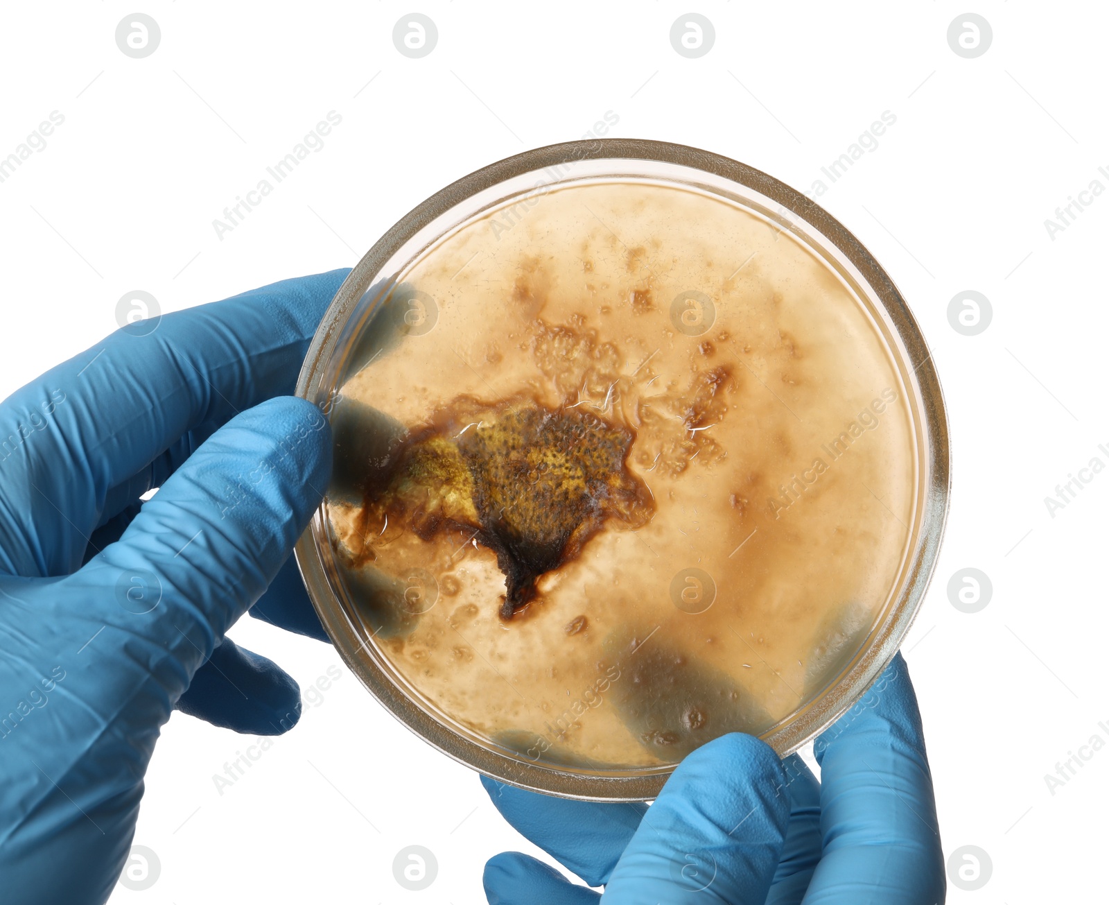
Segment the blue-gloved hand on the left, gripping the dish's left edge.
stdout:
<path fill-rule="evenodd" d="M 130 325 L 0 405 L 4 903 L 108 898 L 174 706 L 296 723 L 296 683 L 225 632 L 254 606 L 325 638 L 289 552 L 329 429 L 285 394 L 346 273 Z"/>

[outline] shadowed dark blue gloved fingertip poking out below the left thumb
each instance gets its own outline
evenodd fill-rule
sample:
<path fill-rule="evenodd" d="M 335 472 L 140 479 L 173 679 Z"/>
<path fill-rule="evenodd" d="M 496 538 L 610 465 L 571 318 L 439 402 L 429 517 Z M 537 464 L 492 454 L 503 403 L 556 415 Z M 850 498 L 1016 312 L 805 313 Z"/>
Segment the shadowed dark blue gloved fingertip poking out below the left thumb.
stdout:
<path fill-rule="evenodd" d="M 301 687 L 272 660 L 224 638 L 176 710 L 250 735 L 279 735 L 301 719 Z"/>

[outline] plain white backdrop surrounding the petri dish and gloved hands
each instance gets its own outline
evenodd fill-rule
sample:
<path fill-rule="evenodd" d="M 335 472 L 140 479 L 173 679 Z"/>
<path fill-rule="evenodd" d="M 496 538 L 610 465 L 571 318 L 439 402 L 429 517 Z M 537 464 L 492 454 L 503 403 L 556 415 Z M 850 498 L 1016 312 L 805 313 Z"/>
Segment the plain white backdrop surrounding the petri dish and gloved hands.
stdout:
<path fill-rule="evenodd" d="M 393 27 L 421 11 L 433 53 Z M 670 44 L 691 9 L 716 41 Z M 128 291 L 163 312 L 353 265 L 447 183 L 527 148 L 610 134 L 696 145 L 798 187 L 883 111 L 897 118 L 820 201 L 884 264 L 932 346 L 954 438 L 955 491 L 933 588 L 904 645 L 920 699 L 945 854 L 984 848 L 993 876 L 952 902 L 1103 895 L 1109 751 L 1055 791 L 1046 773 L 1109 740 L 1103 663 L 1109 472 L 1048 513 L 1044 497 L 1093 456 L 1105 416 L 1109 193 L 1052 241 L 1044 221 L 1109 169 L 1105 8 L 980 2 L 977 59 L 949 48 L 962 2 L 6 3 L 0 155 L 51 111 L 64 123 L 0 183 L 0 396 L 115 328 Z M 116 47 L 142 11 L 162 40 Z M 368 84 L 367 84 L 368 82 Z M 328 111 L 342 124 L 220 241 L 212 221 Z M 825 180 L 826 182 L 826 180 Z M 952 328 L 964 289 L 993 303 Z M 957 611 L 947 581 L 984 570 L 994 594 Z M 244 619 L 232 632 L 303 689 L 338 658 Z M 343 669 L 301 724 L 232 787 L 212 775 L 254 740 L 175 714 L 147 776 L 135 842 L 161 861 L 115 903 L 481 903 L 481 868 L 535 851 L 477 776 L 435 754 Z M 401 889 L 404 845 L 439 863 Z"/>

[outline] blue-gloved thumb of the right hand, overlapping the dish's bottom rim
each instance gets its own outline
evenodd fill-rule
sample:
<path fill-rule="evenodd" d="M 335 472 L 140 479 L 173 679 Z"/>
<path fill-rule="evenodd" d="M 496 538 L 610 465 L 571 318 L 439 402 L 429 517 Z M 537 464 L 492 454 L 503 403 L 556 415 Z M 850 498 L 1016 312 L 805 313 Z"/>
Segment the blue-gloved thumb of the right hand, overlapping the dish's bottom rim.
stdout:
<path fill-rule="evenodd" d="M 751 735 L 699 748 L 643 816 L 606 905 L 764 902 L 790 820 L 786 781 L 773 749 Z"/>

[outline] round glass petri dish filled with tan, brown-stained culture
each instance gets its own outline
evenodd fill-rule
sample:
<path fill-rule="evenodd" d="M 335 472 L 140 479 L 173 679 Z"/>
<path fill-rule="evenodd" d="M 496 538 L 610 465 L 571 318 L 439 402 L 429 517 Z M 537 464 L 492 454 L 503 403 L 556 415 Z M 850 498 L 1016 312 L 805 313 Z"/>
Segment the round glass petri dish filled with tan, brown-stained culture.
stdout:
<path fill-rule="evenodd" d="M 333 429 L 296 557 L 343 659 L 444 753 L 567 797 L 828 726 L 947 512 L 893 281 L 805 195 L 682 145 L 551 145 L 433 195 L 344 282 L 297 395 Z"/>

